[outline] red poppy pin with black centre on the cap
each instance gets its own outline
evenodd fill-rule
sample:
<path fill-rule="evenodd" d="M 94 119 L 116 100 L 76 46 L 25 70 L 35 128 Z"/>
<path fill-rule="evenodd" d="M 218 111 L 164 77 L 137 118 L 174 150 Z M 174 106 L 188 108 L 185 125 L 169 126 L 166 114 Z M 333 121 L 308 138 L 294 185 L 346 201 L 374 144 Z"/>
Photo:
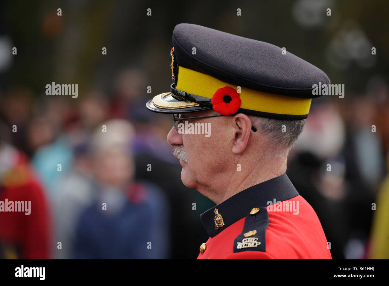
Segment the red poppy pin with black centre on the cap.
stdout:
<path fill-rule="evenodd" d="M 231 115 L 238 111 L 240 107 L 239 93 L 229 86 L 219 88 L 212 97 L 212 108 L 223 115 Z"/>

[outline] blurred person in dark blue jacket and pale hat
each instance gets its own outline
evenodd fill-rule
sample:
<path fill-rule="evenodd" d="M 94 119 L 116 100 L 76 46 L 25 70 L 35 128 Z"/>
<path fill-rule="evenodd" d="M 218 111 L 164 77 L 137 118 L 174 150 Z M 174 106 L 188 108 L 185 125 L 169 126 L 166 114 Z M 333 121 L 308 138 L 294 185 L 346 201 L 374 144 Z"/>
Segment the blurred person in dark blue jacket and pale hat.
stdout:
<path fill-rule="evenodd" d="M 168 205 L 161 191 L 133 180 L 133 126 L 114 119 L 91 142 L 95 199 L 78 218 L 75 258 L 168 258 Z"/>

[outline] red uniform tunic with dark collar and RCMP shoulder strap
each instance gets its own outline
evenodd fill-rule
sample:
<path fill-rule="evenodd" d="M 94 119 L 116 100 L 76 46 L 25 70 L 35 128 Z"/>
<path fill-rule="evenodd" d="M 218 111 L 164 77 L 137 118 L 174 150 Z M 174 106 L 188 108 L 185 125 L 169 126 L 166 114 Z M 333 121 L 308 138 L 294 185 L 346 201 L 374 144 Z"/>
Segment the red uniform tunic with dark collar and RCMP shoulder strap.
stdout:
<path fill-rule="evenodd" d="M 200 217 L 210 238 L 197 259 L 331 259 L 319 218 L 286 174 L 245 189 Z M 217 225 L 223 226 L 216 230 Z"/>

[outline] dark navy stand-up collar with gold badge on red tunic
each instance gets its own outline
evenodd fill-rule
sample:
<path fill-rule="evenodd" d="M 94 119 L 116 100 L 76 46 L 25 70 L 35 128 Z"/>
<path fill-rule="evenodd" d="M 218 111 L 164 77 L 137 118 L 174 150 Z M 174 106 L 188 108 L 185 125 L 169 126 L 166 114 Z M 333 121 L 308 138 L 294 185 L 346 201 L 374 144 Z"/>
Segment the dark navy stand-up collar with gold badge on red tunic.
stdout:
<path fill-rule="evenodd" d="M 274 199 L 276 202 L 282 202 L 296 196 L 298 196 L 296 188 L 294 188 L 292 182 L 284 173 L 240 191 L 221 204 L 202 213 L 200 218 L 207 229 L 208 235 L 214 237 L 228 226 L 247 216 L 254 207 L 267 207 L 269 205 L 268 202 L 270 201 L 273 204 Z M 215 229 L 215 209 L 218 210 L 224 221 L 224 226 L 219 227 L 218 230 Z"/>

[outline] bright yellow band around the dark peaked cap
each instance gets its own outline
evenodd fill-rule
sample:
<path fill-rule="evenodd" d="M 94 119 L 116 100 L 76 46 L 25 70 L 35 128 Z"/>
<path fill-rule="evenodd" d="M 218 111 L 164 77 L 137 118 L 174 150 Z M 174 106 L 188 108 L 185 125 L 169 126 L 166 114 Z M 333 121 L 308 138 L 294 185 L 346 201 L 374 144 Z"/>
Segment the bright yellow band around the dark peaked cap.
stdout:
<path fill-rule="evenodd" d="M 210 75 L 178 67 L 178 79 L 176 88 L 187 93 L 212 98 L 219 88 L 229 86 L 237 89 L 237 86 L 219 81 Z M 306 115 L 309 112 L 312 98 L 287 97 L 275 95 L 249 88 L 241 88 L 240 108 L 268 112 L 274 114 Z"/>

